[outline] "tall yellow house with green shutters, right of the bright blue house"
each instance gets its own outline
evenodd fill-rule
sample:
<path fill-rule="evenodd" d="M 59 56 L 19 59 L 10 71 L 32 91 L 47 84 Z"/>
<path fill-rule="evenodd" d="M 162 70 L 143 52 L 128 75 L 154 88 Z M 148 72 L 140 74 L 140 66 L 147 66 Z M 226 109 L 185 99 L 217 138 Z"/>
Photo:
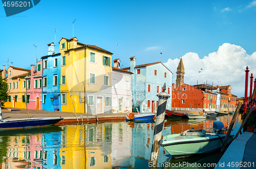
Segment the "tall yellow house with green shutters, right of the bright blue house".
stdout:
<path fill-rule="evenodd" d="M 59 44 L 61 111 L 111 113 L 113 53 L 76 37 L 62 38 Z"/>

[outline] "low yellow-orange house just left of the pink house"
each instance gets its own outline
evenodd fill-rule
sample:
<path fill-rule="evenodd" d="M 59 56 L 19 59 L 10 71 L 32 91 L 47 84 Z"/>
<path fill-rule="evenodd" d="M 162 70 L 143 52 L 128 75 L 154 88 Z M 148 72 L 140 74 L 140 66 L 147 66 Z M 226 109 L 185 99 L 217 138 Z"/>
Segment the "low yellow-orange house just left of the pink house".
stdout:
<path fill-rule="evenodd" d="M 7 83 L 9 85 L 9 91 L 8 91 L 8 100 L 7 102 L 5 102 L 5 106 L 16 107 L 16 108 L 26 108 L 25 77 L 29 75 L 30 70 L 10 66 L 7 69 L 7 72 L 8 72 Z"/>

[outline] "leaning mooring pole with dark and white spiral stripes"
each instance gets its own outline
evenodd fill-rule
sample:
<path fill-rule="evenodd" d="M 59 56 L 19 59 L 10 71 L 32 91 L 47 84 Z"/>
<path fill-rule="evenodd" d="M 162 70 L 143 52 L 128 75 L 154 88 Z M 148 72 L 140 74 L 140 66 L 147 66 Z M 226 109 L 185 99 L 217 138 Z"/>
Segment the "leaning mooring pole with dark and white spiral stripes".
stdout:
<path fill-rule="evenodd" d="M 150 157 L 150 161 L 153 162 L 154 164 L 156 164 L 158 161 L 159 145 L 162 137 L 166 101 L 170 97 L 167 93 L 165 93 L 165 90 L 166 90 L 166 84 L 164 83 L 163 92 L 157 95 L 157 97 L 159 98 L 159 103 L 157 107 L 157 118 L 156 118 L 153 145 L 152 145 L 151 157 Z"/>

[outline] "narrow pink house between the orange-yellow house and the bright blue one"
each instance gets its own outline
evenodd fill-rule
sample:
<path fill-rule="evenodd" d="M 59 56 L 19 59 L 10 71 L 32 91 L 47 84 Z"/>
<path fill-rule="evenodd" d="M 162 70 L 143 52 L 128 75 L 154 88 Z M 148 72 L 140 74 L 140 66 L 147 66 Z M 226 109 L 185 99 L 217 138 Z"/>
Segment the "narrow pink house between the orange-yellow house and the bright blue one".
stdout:
<path fill-rule="evenodd" d="M 31 65 L 31 74 L 26 77 L 27 81 L 27 108 L 42 109 L 42 61 L 37 62 L 37 70 L 35 65 Z"/>

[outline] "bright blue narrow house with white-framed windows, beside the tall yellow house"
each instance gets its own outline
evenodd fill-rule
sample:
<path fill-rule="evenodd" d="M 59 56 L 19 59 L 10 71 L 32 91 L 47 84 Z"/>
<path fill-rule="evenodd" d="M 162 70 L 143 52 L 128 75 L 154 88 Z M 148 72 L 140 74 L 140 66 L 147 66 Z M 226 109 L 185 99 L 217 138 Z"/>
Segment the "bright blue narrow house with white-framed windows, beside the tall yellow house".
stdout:
<path fill-rule="evenodd" d="M 54 44 L 48 44 L 48 55 L 42 59 L 42 109 L 61 111 L 60 108 L 60 53 L 54 53 Z"/>

